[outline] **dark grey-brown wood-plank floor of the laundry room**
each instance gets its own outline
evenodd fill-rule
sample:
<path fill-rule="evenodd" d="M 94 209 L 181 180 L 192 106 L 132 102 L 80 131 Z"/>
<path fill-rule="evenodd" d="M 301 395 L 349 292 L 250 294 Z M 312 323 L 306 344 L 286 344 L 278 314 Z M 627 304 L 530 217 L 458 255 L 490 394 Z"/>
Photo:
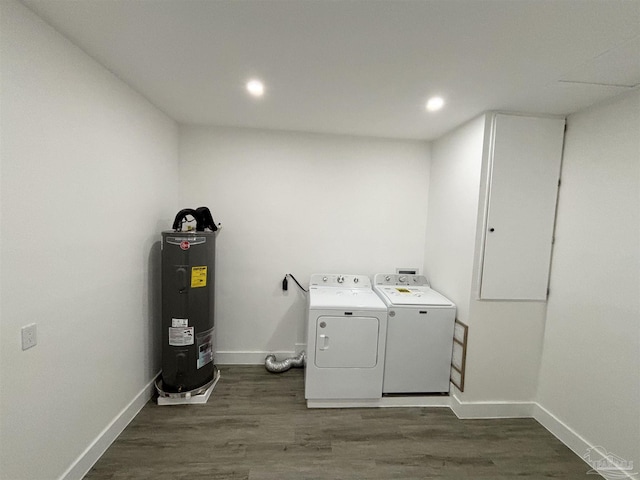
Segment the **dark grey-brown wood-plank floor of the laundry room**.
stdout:
<path fill-rule="evenodd" d="M 206 405 L 150 401 L 85 477 L 582 479 L 589 466 L 533 419 L 448 408 L 307 409 L 304 372 L 223 366 Z"/>

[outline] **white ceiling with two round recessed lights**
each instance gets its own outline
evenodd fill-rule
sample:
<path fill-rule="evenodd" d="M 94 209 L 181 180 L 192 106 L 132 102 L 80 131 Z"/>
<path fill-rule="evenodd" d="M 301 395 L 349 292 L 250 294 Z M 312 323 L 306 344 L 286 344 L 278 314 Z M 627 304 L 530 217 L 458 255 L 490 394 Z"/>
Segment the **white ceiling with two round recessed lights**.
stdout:
<path fill-rule="evenodd" d="M 640 0 L 23 3 L 184 124 L 431 140 L 640 84 Z"/>

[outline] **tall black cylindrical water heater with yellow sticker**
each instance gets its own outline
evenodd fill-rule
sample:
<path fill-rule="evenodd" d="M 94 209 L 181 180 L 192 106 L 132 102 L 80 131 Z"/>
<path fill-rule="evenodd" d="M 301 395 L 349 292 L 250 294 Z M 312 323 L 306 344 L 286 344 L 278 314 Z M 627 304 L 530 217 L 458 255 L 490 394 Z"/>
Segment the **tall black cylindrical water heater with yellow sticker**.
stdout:
<path fill-rule="evenodd" d="M 186 215 L 201 229 L 180 231 Z M 193 393 L 212 384 L 217 373 L 213 287 L 218 227 L 206 207 L 181 210 L 173 227 L 162 232 L 161 395 Z"/>

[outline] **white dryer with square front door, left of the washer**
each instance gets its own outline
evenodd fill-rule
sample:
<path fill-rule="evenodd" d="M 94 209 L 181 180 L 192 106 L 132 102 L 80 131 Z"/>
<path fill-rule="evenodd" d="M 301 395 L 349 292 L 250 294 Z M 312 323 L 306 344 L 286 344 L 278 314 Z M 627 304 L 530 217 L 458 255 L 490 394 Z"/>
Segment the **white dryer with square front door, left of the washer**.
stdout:
<path fill-rule="evenodd" d="M 387 307 L 365 275 L 309 282 L 305 398 L 382 398 Z"/>

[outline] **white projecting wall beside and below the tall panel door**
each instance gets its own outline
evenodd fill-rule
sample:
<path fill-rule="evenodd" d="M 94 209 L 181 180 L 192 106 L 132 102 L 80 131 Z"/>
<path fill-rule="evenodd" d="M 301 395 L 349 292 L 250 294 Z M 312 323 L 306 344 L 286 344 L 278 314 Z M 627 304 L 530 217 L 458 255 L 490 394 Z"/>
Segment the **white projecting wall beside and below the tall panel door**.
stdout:
<path fill-rule="evenodd" d="M 469 325 L 463 402 L 535 398 L 545 304 L 478 300 L 488 128 L 482 115 L 432 144 L 425 270 Z"/>

